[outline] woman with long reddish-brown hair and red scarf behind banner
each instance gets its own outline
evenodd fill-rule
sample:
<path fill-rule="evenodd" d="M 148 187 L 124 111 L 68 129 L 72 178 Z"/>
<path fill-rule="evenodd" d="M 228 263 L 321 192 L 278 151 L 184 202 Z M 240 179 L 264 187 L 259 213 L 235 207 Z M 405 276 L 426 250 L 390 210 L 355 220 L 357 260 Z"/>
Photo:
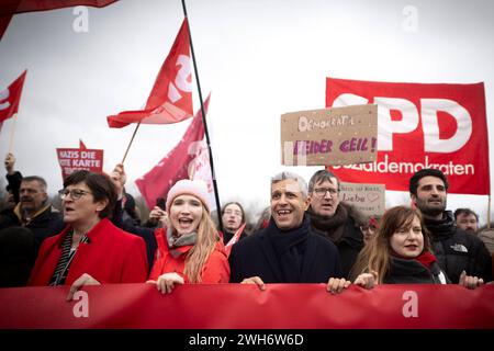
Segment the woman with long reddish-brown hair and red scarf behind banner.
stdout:
<path fill-rule="evenodd" d="M 419 211 L 396 206 L 388 210 L 375 238 L 360 252 L 352 269 L 355 284 L 447 284 L 447 274 L 433 253 L 427 228 Z M 462 271 L 459 284 L 483 285 L 478 276 Z"/>

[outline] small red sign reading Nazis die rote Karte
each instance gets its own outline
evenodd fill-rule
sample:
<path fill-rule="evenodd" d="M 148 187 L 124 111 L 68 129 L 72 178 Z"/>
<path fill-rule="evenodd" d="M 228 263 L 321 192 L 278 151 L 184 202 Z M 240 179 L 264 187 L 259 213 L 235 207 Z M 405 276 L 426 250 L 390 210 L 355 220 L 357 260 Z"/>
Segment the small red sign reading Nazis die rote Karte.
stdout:
<path fill-rule="evenodd" d="M 74 171 L 87 170 L 96 173 L 103 171 L 103 150 L 88 149 L 82 140 L 78 149 L 57 148 L 57 157 L 64 180 Z"/>

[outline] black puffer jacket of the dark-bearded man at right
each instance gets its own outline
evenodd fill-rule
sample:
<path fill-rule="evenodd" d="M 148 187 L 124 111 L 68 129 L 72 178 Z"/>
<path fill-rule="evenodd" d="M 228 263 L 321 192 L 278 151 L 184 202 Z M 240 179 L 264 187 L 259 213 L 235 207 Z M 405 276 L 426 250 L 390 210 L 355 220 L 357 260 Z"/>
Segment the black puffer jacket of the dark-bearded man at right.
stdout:
<path fill-rule="evenodd" d="M 442 219 L 425 219 L 433 235 L 433 249 L 439 265 L 457 284 L 464 270 L 468 275 L 492 281 L 491 256 L 484 242 L 476 236 L 457 228 L 451 211 L 445 211 Z"/>

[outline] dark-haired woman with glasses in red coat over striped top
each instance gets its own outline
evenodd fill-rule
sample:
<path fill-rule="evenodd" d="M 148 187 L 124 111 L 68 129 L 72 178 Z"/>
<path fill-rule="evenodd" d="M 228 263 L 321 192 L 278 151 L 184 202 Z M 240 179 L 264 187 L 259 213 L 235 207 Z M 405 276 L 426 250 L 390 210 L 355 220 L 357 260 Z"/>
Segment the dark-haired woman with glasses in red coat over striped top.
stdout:
<path fill-rule="evenodd" d="M 66 227 L 43 242 L 30 285 L 70 285 L 67 299 L 71 299 L 82 285 L 145 282 L 143 239 L 109 220 L 116 202 L 111 179 L 76 171 L 59 194 Z"/>

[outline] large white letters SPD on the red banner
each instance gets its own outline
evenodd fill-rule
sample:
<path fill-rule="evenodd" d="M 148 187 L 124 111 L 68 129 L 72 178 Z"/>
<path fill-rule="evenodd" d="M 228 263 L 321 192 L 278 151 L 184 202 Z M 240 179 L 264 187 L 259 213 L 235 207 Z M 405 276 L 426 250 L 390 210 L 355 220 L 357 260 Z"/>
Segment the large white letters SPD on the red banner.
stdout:
<path fill-rule="evenodd" d="M 344 93 L 338 95 L 333 107 L 366 104 L 366 98 Z M 449 154 L 461 149 L 472 135 L 472 117 L 457 101 L 448 99 L 420 99 L 420 111 L 409 100 L 400 98 L 375 97 L 378 105 L 378 149 L 393 150 L 393 135 L 412 133 L 419 127 L 424 134 L 424 151 Z M 391 111 L 400 112 L 402 118 L 393 121 Z M 438 112 L 446 112 L 457 122 L 457 129 L 448 139 L 439 138 Z M 419 114 L 420 113 L 420 114 Z"/>

